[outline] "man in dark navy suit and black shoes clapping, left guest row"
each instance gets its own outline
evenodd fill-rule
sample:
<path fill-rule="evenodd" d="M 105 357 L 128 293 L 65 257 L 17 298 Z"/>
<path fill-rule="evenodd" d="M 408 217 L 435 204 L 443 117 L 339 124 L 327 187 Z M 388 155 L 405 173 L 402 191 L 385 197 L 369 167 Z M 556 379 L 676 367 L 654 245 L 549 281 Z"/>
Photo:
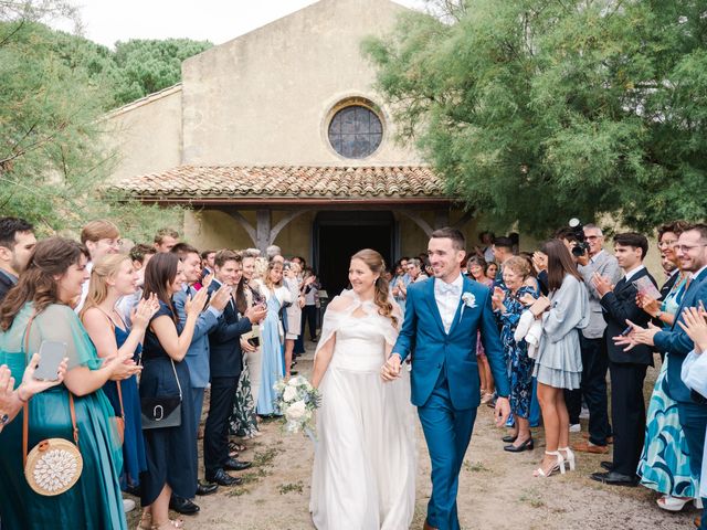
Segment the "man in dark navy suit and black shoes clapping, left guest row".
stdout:
<path fill-rule="evenodd" d="M 213 268 L 214 278 L 209 286 L 211 294 L 219 293 L 222 286 L 234 288 L 243 274 L 241 256 L 229 250 L 217 253 Z M 243 368 L 241 335 L 265 318 L 266 312 L 264 307 L 254 306 L 241 316 L 233 296 L 229 296 L 223 315 L 209 335 L 211 398 L 203 435 L 203 464 L 210 483 L 222 486 L 241 484 L 240 478 L 225 471 L 251 466 L 250 463 L 229 457 L 229 416 Z"/>

